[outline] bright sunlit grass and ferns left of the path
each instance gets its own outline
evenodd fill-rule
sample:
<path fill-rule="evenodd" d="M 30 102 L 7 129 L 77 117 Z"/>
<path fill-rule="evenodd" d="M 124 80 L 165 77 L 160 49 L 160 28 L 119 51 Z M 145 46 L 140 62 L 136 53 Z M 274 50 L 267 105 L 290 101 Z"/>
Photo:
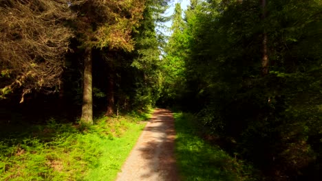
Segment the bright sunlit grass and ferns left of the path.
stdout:
<path fill-rule="evenodd" d="M 100 117 L 86 128 L 51 119 L 12 132 L 0 141 L 0 180 L 115 180 L 149 115 Z"/>

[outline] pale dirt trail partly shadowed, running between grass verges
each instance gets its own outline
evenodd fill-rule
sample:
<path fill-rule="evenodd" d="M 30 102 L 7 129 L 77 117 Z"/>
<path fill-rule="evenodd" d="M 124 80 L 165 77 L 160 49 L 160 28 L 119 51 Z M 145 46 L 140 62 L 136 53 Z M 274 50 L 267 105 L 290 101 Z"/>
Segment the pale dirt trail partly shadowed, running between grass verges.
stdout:
<path fill-rule="evenodd" d="M 174 158 L 175 129 L 169 110 L 156 109 L 117 181 L 179 180 Z"/>

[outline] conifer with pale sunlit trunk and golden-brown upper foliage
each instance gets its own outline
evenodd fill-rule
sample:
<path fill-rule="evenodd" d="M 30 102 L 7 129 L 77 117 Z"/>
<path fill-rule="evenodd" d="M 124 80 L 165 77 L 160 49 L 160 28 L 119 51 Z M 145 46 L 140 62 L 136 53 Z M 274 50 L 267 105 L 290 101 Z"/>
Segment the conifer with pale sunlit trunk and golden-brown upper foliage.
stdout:
<path fill-rule="evenodd" d="M 83 0 L 72 5 L 74 5 L 74 10 L 78 12 L 76 34 L 80 37 L 85 50 L 81 123 L 91 124 L 93 123 L 92 49 L 107 48 L 132 51 L 131 32 L 142 19 L 144 1 Z M 113 96 L 110 98 L 113 99 Z M 112 101 L 111 99 L 108 101 Z M 111 109 L 108 107 L 107 114 L 111 113 Z"/>

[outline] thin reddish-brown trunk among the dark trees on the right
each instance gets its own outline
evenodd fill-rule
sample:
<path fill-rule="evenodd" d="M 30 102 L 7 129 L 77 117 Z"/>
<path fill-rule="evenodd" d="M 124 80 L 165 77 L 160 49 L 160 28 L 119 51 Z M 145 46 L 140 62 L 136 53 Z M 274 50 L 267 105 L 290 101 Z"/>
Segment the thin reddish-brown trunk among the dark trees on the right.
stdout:
<path fill-rule="evenodd" d="M 262 8 L 262 14 L 261 19 L 264 21 L 266 19 L 266 0 L 261 0 L 261 8 Z M 262 41 L 262 58 L 261 58 L 261 75 L 265 76 L 268 75 L 268 49 L 267 49 L 267 34 L 264 27 L 264 33 L 263 33 L 263 41 Z"/>

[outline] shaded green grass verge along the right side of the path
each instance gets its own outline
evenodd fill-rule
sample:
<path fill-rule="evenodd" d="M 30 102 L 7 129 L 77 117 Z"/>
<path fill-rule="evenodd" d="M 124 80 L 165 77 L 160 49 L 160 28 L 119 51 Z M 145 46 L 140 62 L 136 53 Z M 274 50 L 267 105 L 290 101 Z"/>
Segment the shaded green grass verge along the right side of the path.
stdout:
<path fill-rule="evenodd" d="M 193 114 L 175 113 L 175 154 L 182 180 L 257 180 L 251 165 L 198 135 Z"/>

